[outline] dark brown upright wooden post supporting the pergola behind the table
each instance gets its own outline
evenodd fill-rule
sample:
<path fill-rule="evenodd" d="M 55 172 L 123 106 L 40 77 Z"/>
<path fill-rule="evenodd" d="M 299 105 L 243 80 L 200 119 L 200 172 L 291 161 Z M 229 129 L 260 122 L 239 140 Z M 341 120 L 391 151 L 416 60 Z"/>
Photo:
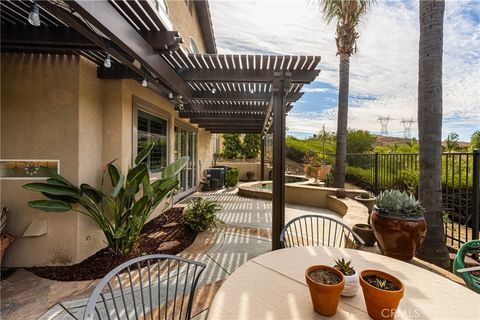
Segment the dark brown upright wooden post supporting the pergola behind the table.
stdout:
<path fill-rule="evenodd" d="M 280 233 L 285 226 L 285 115 L 289 72 L 275 72 L 273 77 L 273 181 L 272 250 L 282 248 Z"/>

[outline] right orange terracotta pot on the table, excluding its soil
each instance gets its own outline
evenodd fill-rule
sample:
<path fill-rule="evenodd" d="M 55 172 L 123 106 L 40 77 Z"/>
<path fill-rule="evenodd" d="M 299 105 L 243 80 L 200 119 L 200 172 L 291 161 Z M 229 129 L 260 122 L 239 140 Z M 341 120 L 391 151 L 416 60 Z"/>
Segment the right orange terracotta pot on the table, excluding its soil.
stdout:
<path fill-rule="evenodd" d="M 400 290 L 388 291 L 372 286 L 365 280 L 364 276 L 378 275 L 395 283 Z M 391 274 L 379 270 L 364 270 L 360 273 L 360 286 L 363 290 L 363 297 L 367 305 L 368 315 L 375 320 L 393 319 L 397 311 L 398 304 L 403 298 L 404 286 L 402 281 L 395 278 Z"/>

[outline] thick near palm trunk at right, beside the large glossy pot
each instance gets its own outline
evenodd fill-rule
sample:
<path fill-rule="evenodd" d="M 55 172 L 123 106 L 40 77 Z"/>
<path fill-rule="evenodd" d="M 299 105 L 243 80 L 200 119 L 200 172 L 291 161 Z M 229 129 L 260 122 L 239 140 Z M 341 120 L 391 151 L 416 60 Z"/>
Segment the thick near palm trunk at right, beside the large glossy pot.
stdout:
<path fill-rule="evenodd" d="M 441 267 L 450 264 L 442 216 L 443 0 L 421 0 L 418 60 L 418 197 L 427 210 L 427 237 L 417 256 Z"/>

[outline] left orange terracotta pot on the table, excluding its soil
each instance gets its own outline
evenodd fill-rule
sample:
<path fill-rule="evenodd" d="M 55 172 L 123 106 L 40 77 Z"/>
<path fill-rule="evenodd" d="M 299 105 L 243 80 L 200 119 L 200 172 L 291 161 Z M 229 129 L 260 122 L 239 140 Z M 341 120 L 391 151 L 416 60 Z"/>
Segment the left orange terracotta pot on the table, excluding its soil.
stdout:
<path fill-rule="evenodd" d="M 310 278 L 309 274 L 310 272 L 318 269 L 332 271 L 333 273 L 337 274 L 342 281 L 334 285 L 315 282 L 312 278 Z M 315 265 L 309 267 L 305 271 L 305 279 L 307 281 L 308 289 L 310 290 L 310 297 L 312 298 L 313 309 L 315 312 L 321 314 L 322 316 L 333 316 L 337 312 L 340 295 L 345 285 L 343 273 L 329 266 Z"/>

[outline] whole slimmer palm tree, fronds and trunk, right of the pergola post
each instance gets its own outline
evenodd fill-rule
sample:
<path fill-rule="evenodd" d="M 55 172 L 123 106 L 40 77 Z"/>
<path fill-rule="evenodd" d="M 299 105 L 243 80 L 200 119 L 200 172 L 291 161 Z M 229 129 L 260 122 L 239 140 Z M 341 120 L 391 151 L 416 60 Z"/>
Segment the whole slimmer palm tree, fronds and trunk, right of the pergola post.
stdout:
<path fill-rule="evenodd" d="M 335 177 L 333 186 L 345 185 L 348 129 L 348 83 L 350 56 L 357 50 L 357 28 L 374 0 L 321 0 L 323 17 L 328 24 L 336 23 L 337 55 L 340 56 L 340 83 L 338 86 L 337 145 L 335 150 Z"/>

